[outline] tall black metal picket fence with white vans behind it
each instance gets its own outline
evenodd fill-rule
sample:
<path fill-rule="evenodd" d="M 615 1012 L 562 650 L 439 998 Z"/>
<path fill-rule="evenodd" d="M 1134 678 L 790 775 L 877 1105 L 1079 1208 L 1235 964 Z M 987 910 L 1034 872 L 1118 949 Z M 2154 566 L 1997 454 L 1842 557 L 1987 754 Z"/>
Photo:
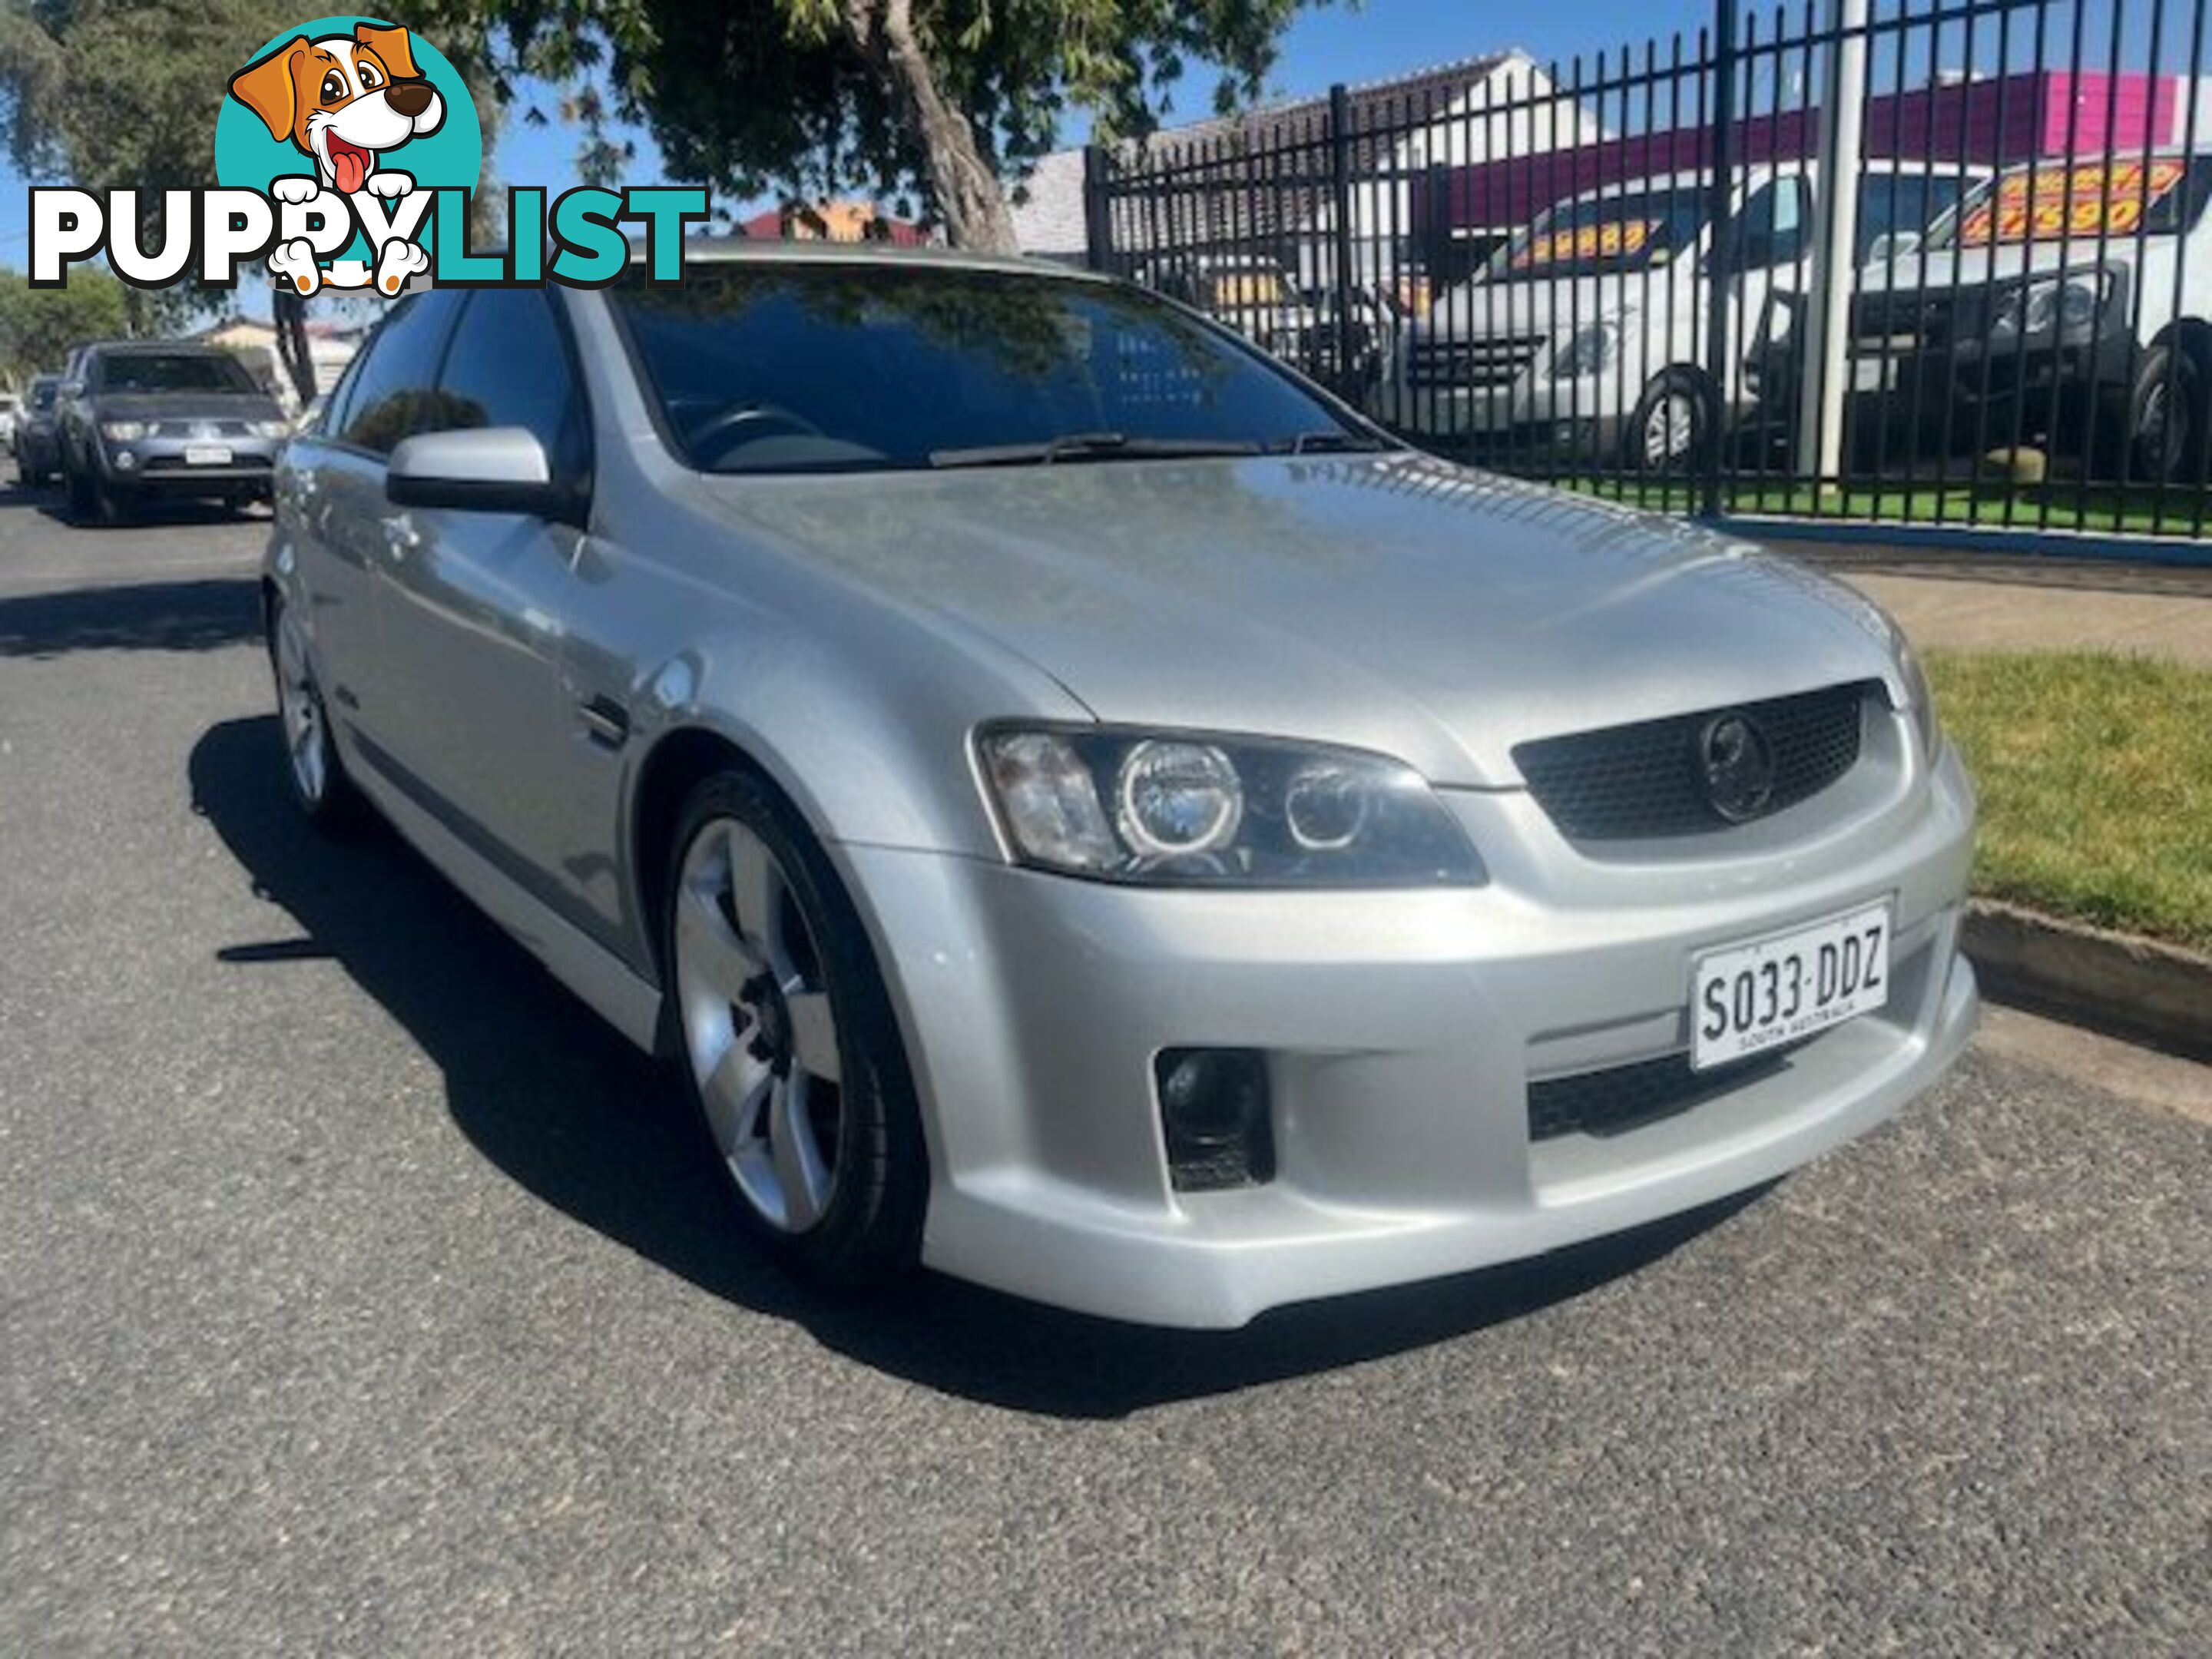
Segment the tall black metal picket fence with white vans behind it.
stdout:
<path fill-rule="evenodd" d="M 2203 535 L 2208 4 L 1719 0 L 1338 86 L 1093 150 L 1091 261 L 1502 471 Z"/>

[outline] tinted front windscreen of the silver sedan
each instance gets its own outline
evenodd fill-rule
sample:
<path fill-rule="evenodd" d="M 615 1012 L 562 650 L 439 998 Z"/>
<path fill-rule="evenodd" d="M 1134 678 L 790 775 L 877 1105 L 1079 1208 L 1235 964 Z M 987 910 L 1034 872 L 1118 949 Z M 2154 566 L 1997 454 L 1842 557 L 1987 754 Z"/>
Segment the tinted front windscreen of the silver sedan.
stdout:
<path fill-rule="evenodd" d="M 1256 352 L 1135 288 L 732 261 L 695 265 L 681 288 L 633 279 L 613 299 L 703 471 L 962 465 L 1026 445 L 1104 460 L 1369 442 Z"/>

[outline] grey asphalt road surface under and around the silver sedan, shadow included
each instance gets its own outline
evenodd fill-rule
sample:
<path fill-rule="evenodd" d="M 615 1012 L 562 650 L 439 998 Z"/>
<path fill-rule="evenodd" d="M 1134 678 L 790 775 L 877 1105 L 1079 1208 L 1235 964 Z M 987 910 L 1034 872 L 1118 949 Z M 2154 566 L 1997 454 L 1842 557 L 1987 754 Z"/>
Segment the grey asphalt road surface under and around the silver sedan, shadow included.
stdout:
<path fill-rule="evenodd" d="M 825 1305 L 296 823 L 263 535 L 0 493 L 0 1652 L 2212 1650 L 2208 1121 L 1984 1048 L 1739 1206 L 1232 1336 Z"/>

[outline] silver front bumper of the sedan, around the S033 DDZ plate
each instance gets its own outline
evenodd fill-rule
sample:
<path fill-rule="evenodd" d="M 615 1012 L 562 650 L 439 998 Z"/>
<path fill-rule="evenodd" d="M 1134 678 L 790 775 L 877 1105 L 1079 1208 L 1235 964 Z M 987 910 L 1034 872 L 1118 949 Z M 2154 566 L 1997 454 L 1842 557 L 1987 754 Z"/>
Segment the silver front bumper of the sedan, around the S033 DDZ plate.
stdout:
<path fill-rule="evenodd" d="M 1761 856 L 1597 860 L 1526 792 L 1451 805 L 1482 889 L 1159 891 L 841 847 L 925 1110 L 922 1259 L 1093 1314 L 1241 1325 L 1774 1179 L 1898 1110 L 1973 1031 L 1973 792 L 1949 752 L 1847 823 L 1823 799 L 1770 818 L 1787 847 Z M 1672 1117 L 1531 1137 L 1531 1082 L 1688 1046 L 1699 951 L 1882 894 L 1880 1013 Z M 1265 1186 L 1172 1190 L 1152 1057 L 1179 1046 L 1267 1053 Z"/>

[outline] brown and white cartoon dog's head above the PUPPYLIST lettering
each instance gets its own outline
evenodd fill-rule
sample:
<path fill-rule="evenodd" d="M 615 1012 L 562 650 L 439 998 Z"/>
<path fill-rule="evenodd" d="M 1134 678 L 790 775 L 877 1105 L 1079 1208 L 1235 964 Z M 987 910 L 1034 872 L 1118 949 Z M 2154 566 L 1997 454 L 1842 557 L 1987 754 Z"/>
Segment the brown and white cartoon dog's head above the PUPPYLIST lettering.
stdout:
<path fill-rule="evenodd" d="M 270 137 L 314 157 L 323 184 L 343 195 L 363 188 L 380 153 L 445 122 L 445 100 L 416 69 L 407 31 L 374 22 L 352 35 L 294 35 L 232 75 L 230 93 Z"/>

